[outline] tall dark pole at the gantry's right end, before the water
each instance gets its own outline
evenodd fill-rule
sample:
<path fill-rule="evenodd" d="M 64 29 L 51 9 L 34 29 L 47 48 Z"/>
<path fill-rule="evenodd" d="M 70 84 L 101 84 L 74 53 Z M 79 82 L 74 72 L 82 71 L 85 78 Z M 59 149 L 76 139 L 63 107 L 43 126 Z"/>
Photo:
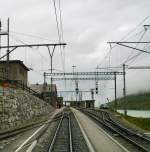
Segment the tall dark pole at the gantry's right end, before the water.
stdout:
<path fill-rule="evenodd" d="M 124 115 L 127 115 L 127 103 L 126 103 L 126 72 L 125 72 L 125 64 L 123 64 L 123 96 L 124 96 Z"/>

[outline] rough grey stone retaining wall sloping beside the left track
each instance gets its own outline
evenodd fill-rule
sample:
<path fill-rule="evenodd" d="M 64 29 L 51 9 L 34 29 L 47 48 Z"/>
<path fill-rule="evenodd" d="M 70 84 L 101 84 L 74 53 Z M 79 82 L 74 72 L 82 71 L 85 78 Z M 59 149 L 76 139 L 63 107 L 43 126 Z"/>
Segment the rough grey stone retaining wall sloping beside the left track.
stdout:
<path fill-rule="evenodd" d="M 45 101 L 22 90 L 0 97 L 0 132 L 27 125 L 54 109 Z"/>

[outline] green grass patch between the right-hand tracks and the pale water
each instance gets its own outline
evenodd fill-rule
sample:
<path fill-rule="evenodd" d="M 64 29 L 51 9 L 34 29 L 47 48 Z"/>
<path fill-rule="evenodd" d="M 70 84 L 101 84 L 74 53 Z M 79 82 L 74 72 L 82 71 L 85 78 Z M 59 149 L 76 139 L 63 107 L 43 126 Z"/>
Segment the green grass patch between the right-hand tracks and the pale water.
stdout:
<path fill-rule="evenodd" d="M 124 116 L 124 118 L 137 127 L 140 127 L 145 131 L 150 131 L 150 118 L 135 118 L 130 116 Z"/>

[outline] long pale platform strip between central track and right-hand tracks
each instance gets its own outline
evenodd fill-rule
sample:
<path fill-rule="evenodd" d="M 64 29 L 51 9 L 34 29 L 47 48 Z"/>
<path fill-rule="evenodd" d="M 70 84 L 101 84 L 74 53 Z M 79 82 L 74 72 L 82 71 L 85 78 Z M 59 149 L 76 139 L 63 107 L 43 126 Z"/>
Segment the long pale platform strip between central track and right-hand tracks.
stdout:
<path fill-rule="evenodd" d="M 129 152 L 88 116 L 72 108 L 91 152 Z"/>

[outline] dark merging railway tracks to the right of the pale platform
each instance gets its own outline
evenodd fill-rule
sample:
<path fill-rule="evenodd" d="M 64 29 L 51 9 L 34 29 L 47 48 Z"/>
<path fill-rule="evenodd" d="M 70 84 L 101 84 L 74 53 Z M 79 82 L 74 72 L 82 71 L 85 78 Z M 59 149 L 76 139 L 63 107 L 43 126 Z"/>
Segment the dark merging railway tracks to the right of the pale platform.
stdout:
<path fill-rule="evenodd" d="M 119 135 L 124 140 L 134 145 L 139 151 L 150 152 L 150 139 L 119 124 L 110 117 L 108 112 L 94 109 L 82 109 L 81 111 L 96 120 L 105 130 Z"/>

